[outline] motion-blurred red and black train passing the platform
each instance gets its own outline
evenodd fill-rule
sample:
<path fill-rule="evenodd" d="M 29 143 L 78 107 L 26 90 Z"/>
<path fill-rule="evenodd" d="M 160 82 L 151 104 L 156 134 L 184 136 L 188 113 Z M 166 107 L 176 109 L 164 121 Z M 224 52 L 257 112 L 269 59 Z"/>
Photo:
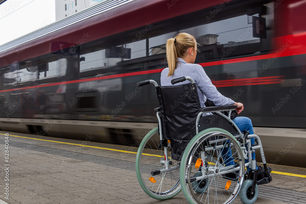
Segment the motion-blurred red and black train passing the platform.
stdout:
<path fill-rule="evenodd" d="M 306 167 L 305 0 L 113 0 L 0 46 L 0 129 L 136 147 L 156 127 L 166 39 L 244 103 L 268 163 Z M 258 156 L 258 158 L 260 158 Z"/>

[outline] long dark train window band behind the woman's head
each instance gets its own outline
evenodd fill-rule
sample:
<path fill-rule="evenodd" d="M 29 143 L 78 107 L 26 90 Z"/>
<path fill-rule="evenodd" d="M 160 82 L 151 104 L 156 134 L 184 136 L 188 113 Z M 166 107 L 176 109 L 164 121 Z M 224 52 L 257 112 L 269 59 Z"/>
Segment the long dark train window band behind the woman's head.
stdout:
<path fill-rule="evenodd" d="M 271 50 L 273 11 L 268 9 L 267 13 L 260 14 L 253 12 L 250 16 L 247 9 L 240 7 L 230 12 L 230 16 L 229 12 L 224 11 L 225 13 L 222 13 L 219 19 L 217 17 L 207 19 L 209 12 L 209 10 L 198 11 L 199 17 L 194 19 L 192 24 L 189 20 L 184 21 L 177 17 L 177 19 L 162 22 L 164 26 L 160 26 L 161 22 L 158 22 L 143 35 L 139 35 L 144 30 L 141 27 L 138 30 L 134 29 L 95 42 L 84 43 L 80 46 L 79 77 L 92 77 L 97 73 L 104 75 L 166 67 L 164 61 L 166 40 L 180 32 L 194 35 L 200 43 L 200 53 L 196 63 L 262 54 Z M 253 16 L 266 19 L 267 39 L 253 37 Z M 177 21 L 181 24 L 174 23 Z"/>

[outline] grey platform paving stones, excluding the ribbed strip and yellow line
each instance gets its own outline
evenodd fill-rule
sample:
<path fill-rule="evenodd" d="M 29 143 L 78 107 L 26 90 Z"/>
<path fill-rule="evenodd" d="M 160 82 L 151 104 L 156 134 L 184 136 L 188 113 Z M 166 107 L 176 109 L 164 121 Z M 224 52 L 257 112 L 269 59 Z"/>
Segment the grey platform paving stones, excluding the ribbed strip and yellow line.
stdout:
<path fill-rule="evenodd" d="M 0 131 L 1 133 L 1 131 Z M 17 135 L 17 133 L 14 133 Z M 24 135 L 24 134 L 18 134 Z M 39 138 L 37 135 L 27 137 Z M 69 143 L 82 143 L 76 140 L 40 137 L 41 139 L 57 140 Z M 80 147 L 75 145 L 58 144 L 46 141 L 33 141 L 26 138 L 11 137 L 11 141 L 36 144 L 39 146 L 69 150 L 100 157 L 122 159 L 135 162 L 136 154 L 113 152 L 110 150 Z M 87 143 L 90 146 L 107 147 L 113 149 L 130 150 L 136 152 L 137 148 L 102 143 Z M 161 203 L 149 197 L 140 187 L 136 172 L 124 168 L 98 164 L 89 161 L 27 150 L 10 146 L 13 161 L 10 166 L 11 199 L 8 203 L 82 203 L 82 204 L 117 204 L 117 203 Z M 306 174 L 306 169 L 272 165 L 274 171 Z M 133 168 L 135 168 L 133 166 Z M 3 177 L 0 171 L 0 177 Z M 273 181 L 267 186 L 293 189 L 296 192 L 306 192 L 304 178 L 272 174 Z M 0 179 L 0 185 L 4 181 Z M 2 197 L 0 197 L 2 198 Z M 162 204 L 188 203 L 180 192 L 174 198 L 162 201 Z M 234 203 L 241 203 L 237 199 Z M 276 204 L 280 202 L 259 197 L 256 203 Z"/>

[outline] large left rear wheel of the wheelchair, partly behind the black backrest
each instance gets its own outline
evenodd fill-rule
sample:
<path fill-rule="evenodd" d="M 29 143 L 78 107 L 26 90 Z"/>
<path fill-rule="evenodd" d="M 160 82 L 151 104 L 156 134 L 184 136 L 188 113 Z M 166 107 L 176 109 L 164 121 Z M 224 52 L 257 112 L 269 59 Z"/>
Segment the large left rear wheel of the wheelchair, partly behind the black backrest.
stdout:
<path fill-rule="evenodd" d="M 158 200 L 172 198 L 181 191 L 180 169 L 174 169 L 151 175 L 151 171 L 165 169 L 164 147 L 159 147 L 158 128 L 151 130 L 140 143 L 136 155 L 136 175 L 140 186 L 147 195 Z M 168 151 L 169 168 L 177 166 L 177 161 L 170 159 L 170 147 Z"/>

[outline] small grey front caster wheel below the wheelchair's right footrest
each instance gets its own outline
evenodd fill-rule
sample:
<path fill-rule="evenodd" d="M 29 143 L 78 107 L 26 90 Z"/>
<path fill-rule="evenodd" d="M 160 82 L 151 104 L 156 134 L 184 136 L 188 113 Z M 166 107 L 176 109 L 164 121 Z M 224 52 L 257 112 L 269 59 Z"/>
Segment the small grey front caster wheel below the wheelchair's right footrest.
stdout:
<path fill-rule="evenodd" d="M 257 200 L 258 197 L 258 186 L 255 185 L 255 192 L 254 195 L 251 195 L 251 187 L 253 185 L 253 180 L 248 179 L 245 180 L 241 186 L 239 197 L 241 202 L 244 204 L 252 204 Z"/>

